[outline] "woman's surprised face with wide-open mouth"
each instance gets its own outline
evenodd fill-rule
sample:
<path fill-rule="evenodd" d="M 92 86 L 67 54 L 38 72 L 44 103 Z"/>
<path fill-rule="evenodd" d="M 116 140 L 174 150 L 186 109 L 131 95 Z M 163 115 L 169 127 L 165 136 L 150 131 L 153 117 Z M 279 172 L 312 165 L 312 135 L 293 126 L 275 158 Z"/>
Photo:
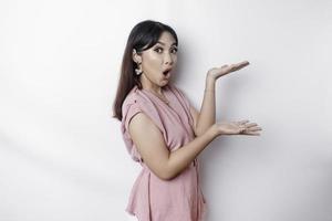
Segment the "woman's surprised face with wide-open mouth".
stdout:
<path fill-rule="evenodd" d="M 151 49 L 134 56 L 134 61 L 142 62 L 142 84 L 146 86 L 165 86 L 172 76 L 177 62 L 176 41 L 169 32 L 163 32 L 158 42 Z M 149 84 L 149 85 L 147 85 Z"/>

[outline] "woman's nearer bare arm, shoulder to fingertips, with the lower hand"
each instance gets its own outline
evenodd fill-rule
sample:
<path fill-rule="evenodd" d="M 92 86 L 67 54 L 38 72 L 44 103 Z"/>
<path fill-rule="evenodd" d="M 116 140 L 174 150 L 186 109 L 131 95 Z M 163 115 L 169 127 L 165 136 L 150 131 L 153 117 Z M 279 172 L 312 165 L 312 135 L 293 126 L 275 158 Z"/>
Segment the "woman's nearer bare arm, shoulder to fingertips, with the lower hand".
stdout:
<path fill-rule="evenodd" d="M 247 129 L 248 135 L 259 135 L 257 124 L 217 123 L 190 143 L 169 151 L 162 131 L 144 113 L 136 114 L 129 122 L 129 135 L 147 167 L 160 179 L 169 180 L 180 173 L 218 136 L 236 135 Z"/>

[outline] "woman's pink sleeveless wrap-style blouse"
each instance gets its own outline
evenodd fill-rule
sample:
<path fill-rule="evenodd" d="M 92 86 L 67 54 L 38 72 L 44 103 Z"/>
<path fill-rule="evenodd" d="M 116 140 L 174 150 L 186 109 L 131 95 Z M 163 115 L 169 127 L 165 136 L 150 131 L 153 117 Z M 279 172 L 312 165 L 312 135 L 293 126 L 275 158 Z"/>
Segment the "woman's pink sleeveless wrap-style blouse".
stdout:
<path fill-rule="evenodd" d="M 194 119 L 189 101 L 175 85 L 163 88 L 169 106 L 146 90 L 134 86 L 125 98 L 122 113 L 122 134 L 133 160 L 142 165 L 126 207 L 138 221 L 203 221 L 206 201 L 199 186 L 199 164 L 195 159 L 180 175 L 162 180 L 142 161 L 128 133 L 133 116 L 143 112 L 160 129 L 169 151 L 174 151 L 195 138 Z"/>

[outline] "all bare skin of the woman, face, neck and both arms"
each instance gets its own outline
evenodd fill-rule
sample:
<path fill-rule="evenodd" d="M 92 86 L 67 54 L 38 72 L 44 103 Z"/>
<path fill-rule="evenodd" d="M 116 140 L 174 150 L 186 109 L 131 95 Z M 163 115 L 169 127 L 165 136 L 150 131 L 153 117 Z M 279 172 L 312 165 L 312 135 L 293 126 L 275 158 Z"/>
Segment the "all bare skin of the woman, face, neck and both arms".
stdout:
<path fill-rule="evenodd" d="M 133 61 L 138 63 L 139 69 L 143 70 L 139 77 L 143 88 L 165 98 L 162 87 L 169 82 L 170 76 L 164 76 L 163 71 L 175 67 L 177 50 L 170 33 L 164 32 L 159 41 L 162 43 L 157 43 L 142 54 L 137 54 L 133 50 Z M 249 124 L 247 119 L 216 123 L 216 81 L 247 65 L 249 65 L 249 62 L 243 61 L 237 64 L 214 67 L 207 72 L 200 110 L 198 112 L 190 106 L 190 114 L 194 118 L 193 130 L 196 137 L 177 150 L 168 150 L 162 131 L 147 115 L 138 113 L 132 118 L 129 123 L 131 137 L 144 162 L 157 177 L 164 180 L 175 178 L 220 135 L 260 135 L 258 131 L 261 128 L 256 123 Z"/>

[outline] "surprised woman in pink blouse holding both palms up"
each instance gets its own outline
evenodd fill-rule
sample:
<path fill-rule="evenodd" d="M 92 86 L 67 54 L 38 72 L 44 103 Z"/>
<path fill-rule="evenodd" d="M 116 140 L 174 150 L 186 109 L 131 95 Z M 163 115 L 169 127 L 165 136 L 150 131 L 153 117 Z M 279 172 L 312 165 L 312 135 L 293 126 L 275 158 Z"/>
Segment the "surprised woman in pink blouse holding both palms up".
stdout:
<path fill-rule="evenodd" d="M 127 40 L 114 117 L 128 152 L 142 165 L 126 211 L 139 221 L 201 221 L 206 201 L 197 156 L 220 135 L 259 135 L 249 120 L 215 122 L 217 78 L 248 62 L 208 71 L 200 112 L 170 83 L 178 39 L 160 22 L 136 24 Z"/>

